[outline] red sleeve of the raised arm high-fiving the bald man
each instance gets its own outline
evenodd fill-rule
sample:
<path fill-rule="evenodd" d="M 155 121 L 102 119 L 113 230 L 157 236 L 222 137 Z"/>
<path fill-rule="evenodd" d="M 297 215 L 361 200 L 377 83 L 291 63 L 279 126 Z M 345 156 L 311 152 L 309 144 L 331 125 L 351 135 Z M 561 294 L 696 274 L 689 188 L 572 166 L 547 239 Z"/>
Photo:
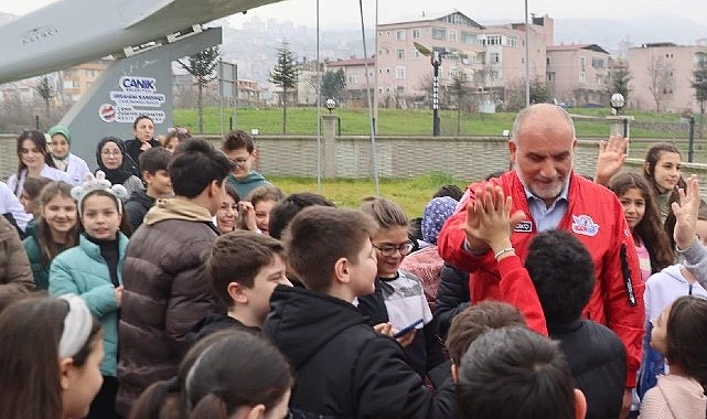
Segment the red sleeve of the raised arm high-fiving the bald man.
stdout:
<path fill-rule="evenodd" d="M 531 276 L 521 262 L 521 258 L 512 256 L 499 261 L 501 272 L 501 299 L 515 305 L 525 316 L 528 327 L 543 336 L 547 336 L 547 323 L 540 300 L 531 281 Z"/>

